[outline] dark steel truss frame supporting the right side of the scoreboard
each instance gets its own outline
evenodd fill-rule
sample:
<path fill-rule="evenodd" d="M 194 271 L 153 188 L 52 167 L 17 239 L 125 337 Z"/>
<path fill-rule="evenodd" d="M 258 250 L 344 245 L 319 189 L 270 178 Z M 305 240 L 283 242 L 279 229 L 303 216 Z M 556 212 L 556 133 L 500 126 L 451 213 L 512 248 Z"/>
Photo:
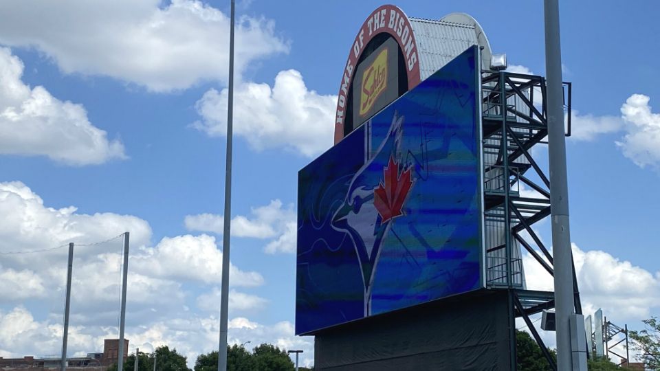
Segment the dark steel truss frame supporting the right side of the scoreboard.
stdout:
<path fill-rule="evenodd" d="M 509 297 L 509 357 L 516 364 L 516 318 L 522 317 L 552 370 L 557 366 L 529 319 L 554 308 L 552 291 L 525 288 L 520 249 L 524 248 L 550 275 L 553 258 L 532 226 L 550 215 L 550 181 L 533 156 L 547 142 L 545 78 L 505 71 L 482 71 L 484 218 L 500 226 L 498 243 L 486 245 L 487 287 L 506 290 Z M 564 82 L 564 111 L 571 131 L 571 84 Z M 547 150 L 547 148 L 543 148 Z M 530 188 L 532 196 L 520 192 Z M 493 224 L 494 223 L 494 224 Z M 504 260 L 504 262 L 501 262 Z M 575 312 L 582 314 L 573 265 Z"/>

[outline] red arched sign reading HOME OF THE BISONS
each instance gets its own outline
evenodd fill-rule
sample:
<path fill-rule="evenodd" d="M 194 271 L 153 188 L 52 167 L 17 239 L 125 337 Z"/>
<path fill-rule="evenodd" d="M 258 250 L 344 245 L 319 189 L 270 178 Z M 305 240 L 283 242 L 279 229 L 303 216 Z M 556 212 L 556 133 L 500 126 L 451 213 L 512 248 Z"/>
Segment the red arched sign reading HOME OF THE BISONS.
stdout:
<path fill-rule="evenodd" d="M 349 52 L 337 99 L 335 144 L 344 138 L 344 118 L 346 117 L 348 93 L 353 84 L 355 67 L 362 52 L 364 52 L 364 47 L 369 44 L 372 38 L 382 33 L 393 36 L 399 47 L 401 47 L 408 75 L 408 90 L 419 84 L 417 41 L 415 41 L 415 34 L 412 33 L 412 25 L 410 25 L 408 16 L 395 5 L 382 5 L 371 12 L 371 15 L 362 23 L 358 35 L 355 36 L 351 52 Z"/>

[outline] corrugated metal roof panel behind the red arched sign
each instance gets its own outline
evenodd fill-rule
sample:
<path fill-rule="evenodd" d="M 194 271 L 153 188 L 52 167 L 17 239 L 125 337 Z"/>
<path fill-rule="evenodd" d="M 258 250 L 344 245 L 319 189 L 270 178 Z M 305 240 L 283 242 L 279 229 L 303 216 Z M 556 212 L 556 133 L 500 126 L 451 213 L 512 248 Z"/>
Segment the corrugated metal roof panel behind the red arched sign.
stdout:
<path fill-rule="evenodd" d="M 410 18 L 417 41 L 421 80 L 472 45 L 478 45 L 474 25 Z"/>

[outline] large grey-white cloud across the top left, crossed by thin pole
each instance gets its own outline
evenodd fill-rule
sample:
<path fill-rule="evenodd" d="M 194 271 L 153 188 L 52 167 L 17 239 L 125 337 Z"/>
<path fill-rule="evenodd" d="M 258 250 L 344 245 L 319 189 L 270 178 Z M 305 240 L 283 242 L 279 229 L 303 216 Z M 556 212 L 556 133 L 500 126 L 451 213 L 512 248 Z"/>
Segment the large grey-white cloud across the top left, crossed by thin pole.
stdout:
<path fill-rule="evenodd" d="M 56 14 L 56 16 L 54 16 Z M 34 47 L 67 74 L 105 75 L 152 91 L 226 81 L 230 19 L 201 1 L 0 2 L 0 43 Z M 288 52 L 274 22 L 236 19 L 236 74 Z"/>

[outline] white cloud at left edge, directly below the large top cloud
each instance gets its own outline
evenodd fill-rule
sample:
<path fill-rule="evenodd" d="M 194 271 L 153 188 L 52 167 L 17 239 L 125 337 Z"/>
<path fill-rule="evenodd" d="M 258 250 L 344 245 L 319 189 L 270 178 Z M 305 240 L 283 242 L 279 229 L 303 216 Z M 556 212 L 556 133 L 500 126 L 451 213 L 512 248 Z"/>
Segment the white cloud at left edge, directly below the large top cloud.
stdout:
<path fill-rule="evenodd" d="M 0 47 L 0 154 L 47 156 L 76 166 L 126 158 L 121 142 L 109 141 L 92 125 L 83 106 L 25 85 L 23 68 L 10 49 Z"/>

